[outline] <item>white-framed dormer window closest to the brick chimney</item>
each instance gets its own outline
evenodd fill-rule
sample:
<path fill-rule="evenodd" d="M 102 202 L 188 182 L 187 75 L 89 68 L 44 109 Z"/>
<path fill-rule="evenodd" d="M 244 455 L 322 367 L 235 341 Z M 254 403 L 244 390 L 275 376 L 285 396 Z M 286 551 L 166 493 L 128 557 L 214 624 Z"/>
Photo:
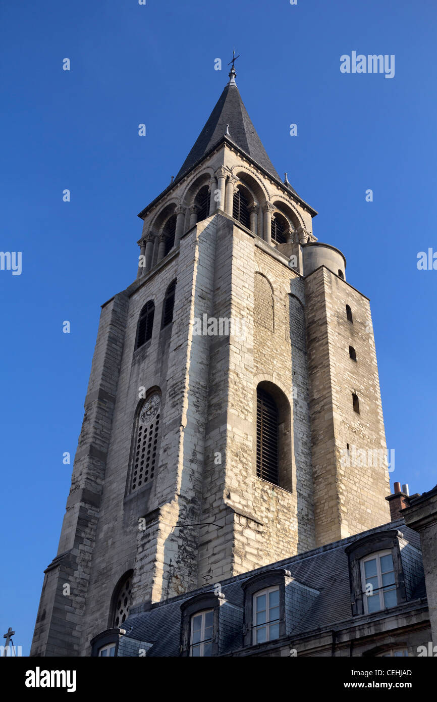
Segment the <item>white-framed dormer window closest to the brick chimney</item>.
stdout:
<path fill-rule="evenodd" d="M 396 584 L 391 551 L 372 553 L 361 561 L 361 583 L 365 614 L 396 607 Z"/>

